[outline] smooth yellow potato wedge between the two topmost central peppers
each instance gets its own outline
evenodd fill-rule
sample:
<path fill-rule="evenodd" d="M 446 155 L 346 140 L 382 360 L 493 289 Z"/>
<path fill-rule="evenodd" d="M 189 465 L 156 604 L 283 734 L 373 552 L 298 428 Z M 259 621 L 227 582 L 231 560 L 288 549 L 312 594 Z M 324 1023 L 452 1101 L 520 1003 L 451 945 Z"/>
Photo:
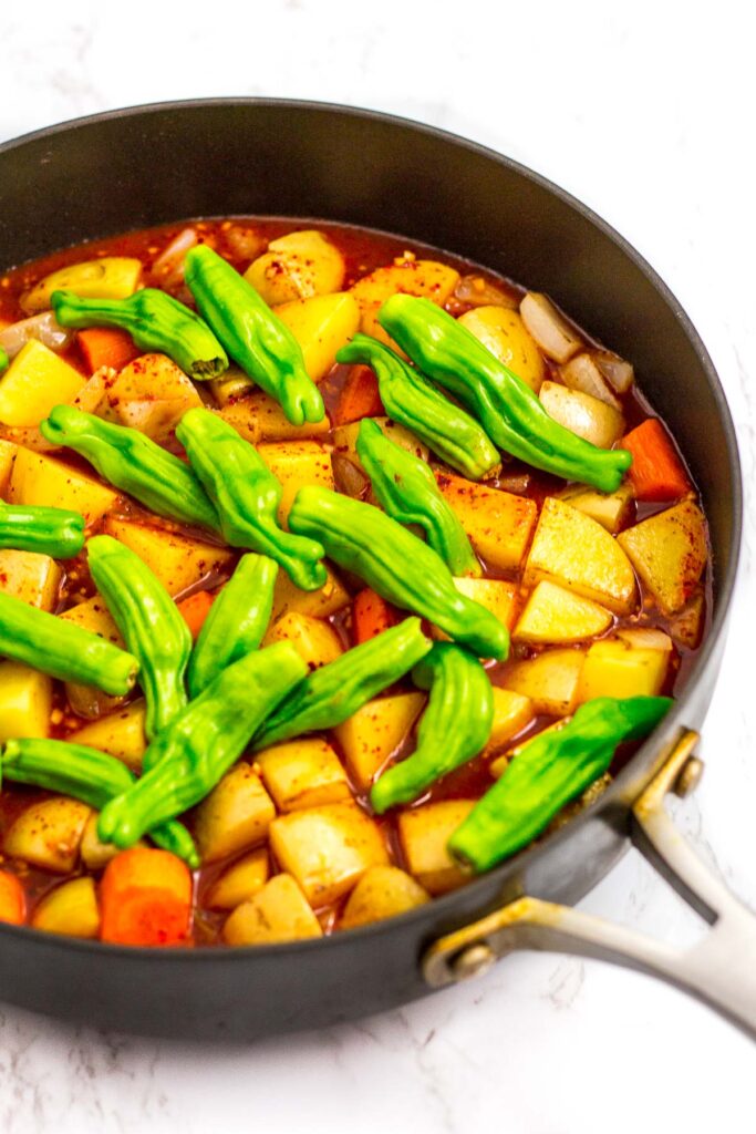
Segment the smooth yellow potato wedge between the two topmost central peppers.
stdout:
<path fill-rule="evenodd" d="M 305 370 L 321 382 L 335 362 L 335 353 L 359 327 L 359 307 L 349 291 L 295 299 L 275 308 L 301 347 Z"/>

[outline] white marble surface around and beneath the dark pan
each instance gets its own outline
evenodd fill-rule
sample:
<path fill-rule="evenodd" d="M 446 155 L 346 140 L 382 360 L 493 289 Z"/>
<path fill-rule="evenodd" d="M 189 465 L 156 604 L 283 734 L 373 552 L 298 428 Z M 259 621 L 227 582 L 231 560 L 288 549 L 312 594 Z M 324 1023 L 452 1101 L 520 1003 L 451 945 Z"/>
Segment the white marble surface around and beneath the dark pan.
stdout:
<path fill-rule="evenodd" d="M 479 139 L 574 192 L 659 269 L 727 389 L 754 488 L 746 6 L 68 0 L 0 8 L 0 137 L 221 94 L 351 102 Z M 141 53 L 144 52 L 144 53 Z M 756 906 L 749 503 L 707 764 L 679 822 Z M 695 920 L 636 855 L 585 908 L 676 941 Z M 598 1134 L 754 1128 L 754 1048 L 640 976 L 520 956 L 401 1012 L 254 1048 L 122 1039 L 0 1007 L 3 1134 L 274 1129 Z"/>

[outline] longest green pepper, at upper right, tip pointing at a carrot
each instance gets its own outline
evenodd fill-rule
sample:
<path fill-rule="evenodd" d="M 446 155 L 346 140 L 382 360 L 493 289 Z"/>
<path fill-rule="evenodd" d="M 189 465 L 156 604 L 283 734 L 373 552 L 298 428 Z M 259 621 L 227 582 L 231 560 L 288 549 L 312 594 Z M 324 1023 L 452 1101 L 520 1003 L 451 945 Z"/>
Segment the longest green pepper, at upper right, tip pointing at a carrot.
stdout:
<path fill-rule="evenodd" d="M 501 449 L 602 492 L 619 488 L 631 455 L 598 449 L 555 422 L 529 386 L 436 304 L 393 295 L 377 318 L 423 373 L 453 393 Z"/>

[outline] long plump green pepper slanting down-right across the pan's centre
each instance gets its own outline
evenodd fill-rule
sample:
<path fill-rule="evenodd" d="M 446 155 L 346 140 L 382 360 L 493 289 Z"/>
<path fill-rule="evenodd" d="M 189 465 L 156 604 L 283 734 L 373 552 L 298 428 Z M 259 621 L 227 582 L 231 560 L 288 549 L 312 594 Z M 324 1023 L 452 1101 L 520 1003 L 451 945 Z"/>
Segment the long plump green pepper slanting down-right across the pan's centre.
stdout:
<path fill-rule="evenodd" d="M 380 508 L 307 485 L 296 496 L 289 527 L 318 539 L 330 559 L 359 575 L 382 599 L 422 615 L 478 657 L 507 657 L 507 628 L 459 593 L 433 548 Z"/>

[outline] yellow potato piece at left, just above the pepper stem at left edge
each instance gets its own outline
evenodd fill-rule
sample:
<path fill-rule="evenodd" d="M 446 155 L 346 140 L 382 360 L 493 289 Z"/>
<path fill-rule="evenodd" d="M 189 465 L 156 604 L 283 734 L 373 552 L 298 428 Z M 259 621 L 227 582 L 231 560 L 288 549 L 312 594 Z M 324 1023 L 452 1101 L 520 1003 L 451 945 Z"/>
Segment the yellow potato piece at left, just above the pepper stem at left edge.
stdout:
<path fill-rule="evenodd" d="M 75 472 L 70 465 L 19 447 L 8 485 L 9 503 L 69 508 L 80 513 L 88 527 L 96 524 L 117 500 L 117 492 L 91 476 Z"/>

